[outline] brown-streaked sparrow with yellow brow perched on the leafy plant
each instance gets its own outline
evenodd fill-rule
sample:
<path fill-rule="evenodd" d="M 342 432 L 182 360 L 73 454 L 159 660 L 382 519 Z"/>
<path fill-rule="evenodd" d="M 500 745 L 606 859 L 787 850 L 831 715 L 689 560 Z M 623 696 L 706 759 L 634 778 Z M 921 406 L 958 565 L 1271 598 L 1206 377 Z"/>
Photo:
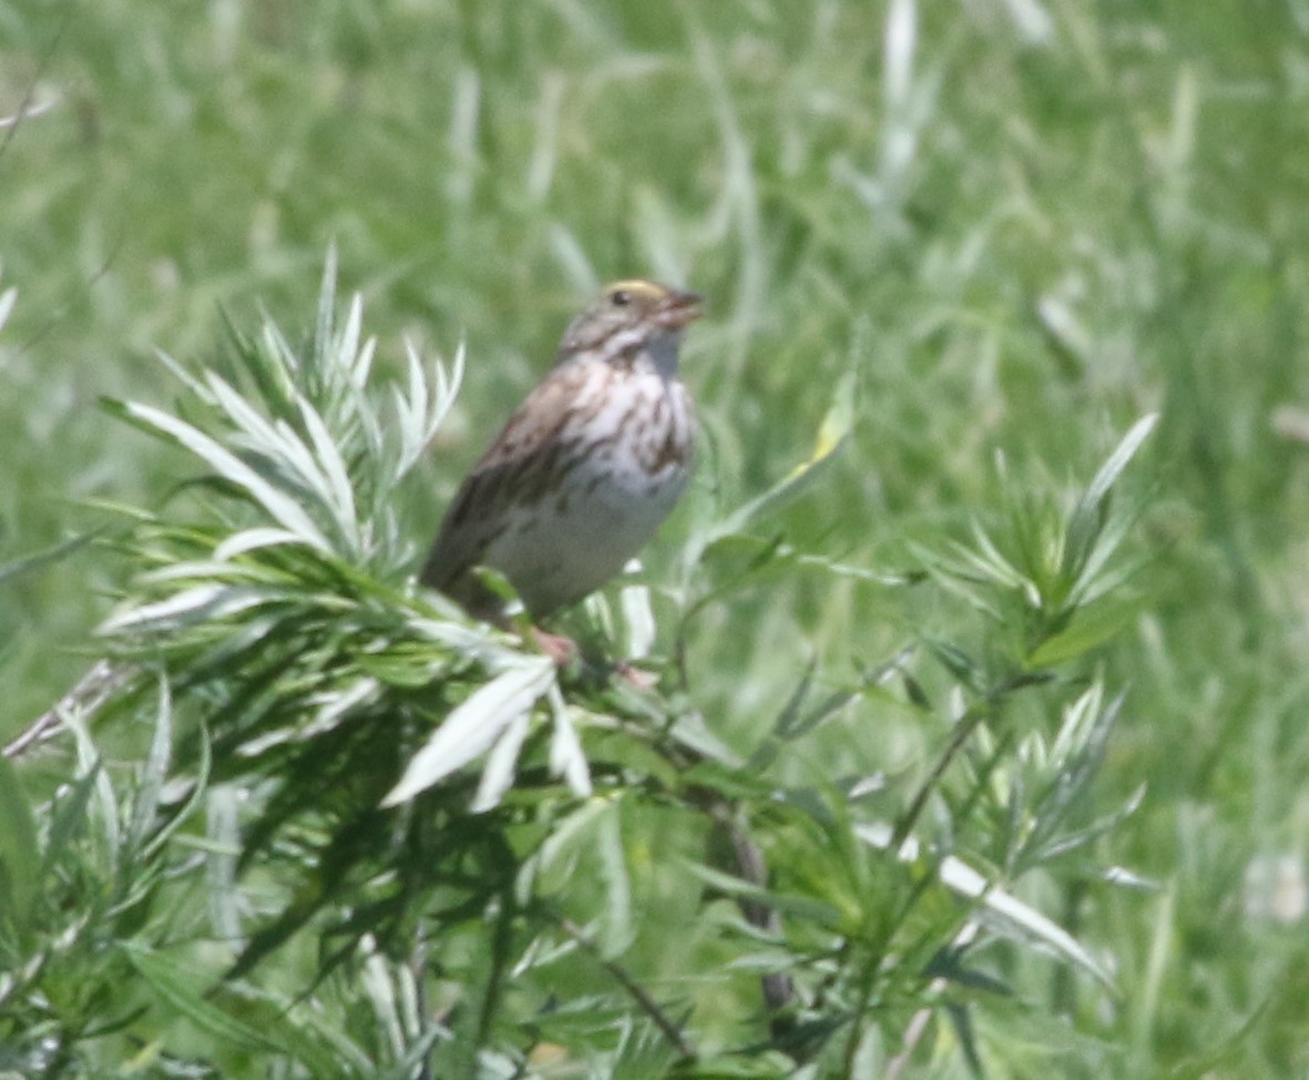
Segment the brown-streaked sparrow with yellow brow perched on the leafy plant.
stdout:
<path fill-rule="evenodd" d="M 463 479 L 423 566 L 424 585 L 504 623 L 479 567 L 541 621 L 600 589 L 654 535 L 695 459 L 679 376 L 694 292 L 624 280 L 564 331 L 554 367 Z"/>

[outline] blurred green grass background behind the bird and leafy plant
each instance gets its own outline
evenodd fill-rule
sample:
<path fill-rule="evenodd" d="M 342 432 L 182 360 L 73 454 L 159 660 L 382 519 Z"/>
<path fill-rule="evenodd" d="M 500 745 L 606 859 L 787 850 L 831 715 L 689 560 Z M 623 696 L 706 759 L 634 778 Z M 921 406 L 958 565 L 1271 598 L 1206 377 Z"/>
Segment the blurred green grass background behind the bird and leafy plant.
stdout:
<path fill-rule="evenodd" d="M 415 552 L 617 276 L 708 297 L 702 501 L 781 477 L 857 374 L 852 445 L 780 526 L 851 566 L 1084 482 L 1160 410 L 1102 656 L 1128 689 L 1105 805 L 1147 796 L 1101 852 L 1158 889 L 1076 927 L 1119 979 L 1094 1034 L 1122 1076 L 1309 1070 L 1309 3 L 0 3 L 0 115 L 24 106 L 0 563 L 161 499 L 177 461 L 98 395 L 166 403 L 153 351 L 211 356 L 224 310 L 308 326 L 331 243 L 382 363 L 467 343 Z M 0 585 L 0 733 L 82 670 L 115 573 L 90 547 Z M 936 617 L 801 575 L 707 610 L 691 670 L 749 740 L 810 660 L 844 678 Z"/>

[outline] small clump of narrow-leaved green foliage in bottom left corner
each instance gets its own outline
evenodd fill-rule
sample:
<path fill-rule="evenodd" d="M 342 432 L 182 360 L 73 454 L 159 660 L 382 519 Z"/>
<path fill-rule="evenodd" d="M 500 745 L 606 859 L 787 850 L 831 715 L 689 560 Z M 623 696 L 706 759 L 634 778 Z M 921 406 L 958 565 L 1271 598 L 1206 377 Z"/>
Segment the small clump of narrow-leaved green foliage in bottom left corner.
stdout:
<path fill-rule="evenodd" d="M 131 986 L 132 940 L 177 895 L 169 867 L 178 833 L 200 801 L 204 762 L 188 791 L 165 797 L 173 716 L 160 687 L 153 736 L 134 775 L 115 783 L 75 711 L 62 723 L 75 741 L 76 774 L 38 808 L 12 765 L 3 766 L 7 840 L 0 856 L 0 1066 L 20 1075 L 62 1075 L 86 1045 L 136 1021 L 145 1003 Z"/>

